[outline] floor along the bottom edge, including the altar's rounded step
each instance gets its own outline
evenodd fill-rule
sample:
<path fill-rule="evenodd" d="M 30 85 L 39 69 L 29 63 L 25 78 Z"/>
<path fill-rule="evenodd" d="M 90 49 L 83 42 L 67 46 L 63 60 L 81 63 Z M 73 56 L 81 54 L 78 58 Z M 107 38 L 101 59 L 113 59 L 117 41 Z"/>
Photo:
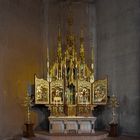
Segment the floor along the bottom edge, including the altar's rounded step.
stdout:
<path fill-rule="evenodd" d="M 69 135 L 60 135 L 60 134 L 48 134 L 45 132 L 35 133 L 35 137 L 24 138 L 21 136 L 15 136 L 13 139 L 8 140 L 140 140 L 140 137 L 131 137 L 131 136 L 119 136 L 119 137 L 108 137 L 107 132 L 96 132 L 96 134 L 69 134 Z"/>

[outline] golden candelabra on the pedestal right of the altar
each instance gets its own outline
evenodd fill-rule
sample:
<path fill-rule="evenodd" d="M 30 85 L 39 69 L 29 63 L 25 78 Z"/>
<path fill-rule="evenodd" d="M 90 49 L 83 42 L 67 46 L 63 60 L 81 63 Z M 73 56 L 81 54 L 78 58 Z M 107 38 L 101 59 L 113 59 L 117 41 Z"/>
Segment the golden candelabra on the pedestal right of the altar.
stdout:
<path fill-rule="evenodd" d="M 116 108 L 119 107 L 119 103 L 118 103 L 117 97 L 114 94 L 110 98 L 109 105 L 112 108 L 112 120 L 111 120 L 110 124 L 117 124 L 118 121 L 117 121 Z"/>

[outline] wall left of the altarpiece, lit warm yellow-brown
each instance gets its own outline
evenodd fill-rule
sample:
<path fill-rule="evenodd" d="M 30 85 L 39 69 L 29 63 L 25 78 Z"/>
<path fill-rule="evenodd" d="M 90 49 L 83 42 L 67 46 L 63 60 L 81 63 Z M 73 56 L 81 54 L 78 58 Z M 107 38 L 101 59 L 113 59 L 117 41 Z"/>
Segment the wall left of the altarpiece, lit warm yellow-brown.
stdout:
<path fill-rule="evenodd" d="M 0 139 L 23 131 L 23 100 L 42 76 L 40 0 L 0 0 Z"/>

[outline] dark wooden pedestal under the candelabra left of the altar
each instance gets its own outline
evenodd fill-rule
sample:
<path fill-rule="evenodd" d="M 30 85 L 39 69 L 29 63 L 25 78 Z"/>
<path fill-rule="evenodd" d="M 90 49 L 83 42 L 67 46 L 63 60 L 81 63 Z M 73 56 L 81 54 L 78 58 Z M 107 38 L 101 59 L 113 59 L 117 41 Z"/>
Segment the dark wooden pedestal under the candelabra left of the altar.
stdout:
<path fill-rule="evenodd" d="M 23 132 L 23 137 L 30 138 L 34 137 L 34 131 L 33 131 L 33 123 L 25 123 L 25 131 Z"/>

